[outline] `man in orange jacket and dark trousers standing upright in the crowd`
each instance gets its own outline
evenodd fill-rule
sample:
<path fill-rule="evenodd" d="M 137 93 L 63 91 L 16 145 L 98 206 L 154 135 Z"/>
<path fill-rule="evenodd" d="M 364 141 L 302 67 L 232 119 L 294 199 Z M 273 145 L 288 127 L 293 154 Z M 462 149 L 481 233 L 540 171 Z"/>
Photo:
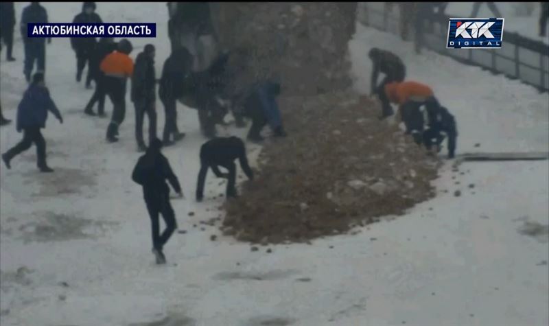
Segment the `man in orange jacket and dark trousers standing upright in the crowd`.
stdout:
<path fill-rule="evenodd" d="M 132 43 L 123 38 L 118 43 L 117 51 L 113 51 L 101 62 L 100 69 L 104 73 L 104 87 L 113 102 L 113 116 L 107 128 L 107 141 L 118 141 L 118 126 L 126 116 L 126 84 L 133 75 Z"/>

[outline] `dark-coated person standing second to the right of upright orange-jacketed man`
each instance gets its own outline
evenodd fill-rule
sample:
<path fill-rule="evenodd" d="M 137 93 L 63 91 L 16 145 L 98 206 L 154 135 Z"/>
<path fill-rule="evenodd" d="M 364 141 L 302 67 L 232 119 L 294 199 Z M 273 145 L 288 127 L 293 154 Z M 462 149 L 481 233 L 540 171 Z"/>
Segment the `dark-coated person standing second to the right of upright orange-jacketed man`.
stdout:
<path fill-rule="evenodd" d="M 176 103 L 183 96 L 185 78 L 191 71 L 192 56 L 184 47 L 172 51 L 165 60 L 159 85 L 159 97 L 164 106 L 165 124 L 163 132 L 164 145 L 172 145 L 185 137 L 177 127 Z M 173 137 L 173 140 L 172 140 Z"/>

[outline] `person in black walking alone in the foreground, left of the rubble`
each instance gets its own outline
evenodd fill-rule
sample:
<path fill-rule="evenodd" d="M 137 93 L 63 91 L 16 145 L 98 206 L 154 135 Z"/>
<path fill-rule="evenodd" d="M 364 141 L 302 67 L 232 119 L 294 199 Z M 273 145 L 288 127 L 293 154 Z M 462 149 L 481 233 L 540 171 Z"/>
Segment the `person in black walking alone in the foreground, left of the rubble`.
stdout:
<path fill-rule="evenodd" d="M 152 253 L 156 256 L 156 264 L 165 264 L 163 247 L 177 228 L 174 209 L 170 204 L 170 187 L 183 197 L 177 176 L 170 167 L 170 162 L 161 153 L 162 141 L 152 139 L 147 152 L 139 158 L 132 172 L 132 180 L 143 186 L 143 198 L 149 212 L 152 226 Z M 160 233 L 159 214 L 166 224 L 162 235 Z"/>

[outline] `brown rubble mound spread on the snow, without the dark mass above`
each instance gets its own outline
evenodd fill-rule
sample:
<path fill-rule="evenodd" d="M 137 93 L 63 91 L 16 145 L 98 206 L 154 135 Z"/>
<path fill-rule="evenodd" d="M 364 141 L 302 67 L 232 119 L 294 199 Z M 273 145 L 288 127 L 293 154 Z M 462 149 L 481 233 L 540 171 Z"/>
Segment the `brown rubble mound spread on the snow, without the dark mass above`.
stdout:
<path fill-rule="evenodd" d="M 305 242 L 401 214 L 434 196 L 439 162 L 379 107 L 349 92 L 285 97 L 290 137 L 266 145 L 260 172 L 226 203 L 222 228 L 248 242 Z"/>

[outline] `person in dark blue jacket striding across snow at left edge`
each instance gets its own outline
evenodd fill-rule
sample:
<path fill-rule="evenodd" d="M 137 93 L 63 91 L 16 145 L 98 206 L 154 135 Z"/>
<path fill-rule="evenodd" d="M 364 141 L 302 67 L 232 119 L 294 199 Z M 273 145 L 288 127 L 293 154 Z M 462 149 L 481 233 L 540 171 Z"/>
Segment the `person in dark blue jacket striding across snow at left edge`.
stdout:
<path fill-rule="evenodd" d="M 23 131 L 23 140 L 15 145 L 14 148 L 2 154 L 2 160 L 8 169 L 11 168 L 10 161 L 21 152 L 28 150 L 32 143 L 36 145 L 36 154 L 38 156 L 38 169 L 40 172 L 54 172 L 46 163 L 46 141 L 40 132 L 45 128 L 47 113 L 53 113 L 59 122 L 63 123 L 63 118 L 59 110 L 49 97 L 49 90 L 44 84 L 44 74 L 35 73 L 27 91 L 23 95 L 23 100 L 17 108 L 17 131 Z"/>

